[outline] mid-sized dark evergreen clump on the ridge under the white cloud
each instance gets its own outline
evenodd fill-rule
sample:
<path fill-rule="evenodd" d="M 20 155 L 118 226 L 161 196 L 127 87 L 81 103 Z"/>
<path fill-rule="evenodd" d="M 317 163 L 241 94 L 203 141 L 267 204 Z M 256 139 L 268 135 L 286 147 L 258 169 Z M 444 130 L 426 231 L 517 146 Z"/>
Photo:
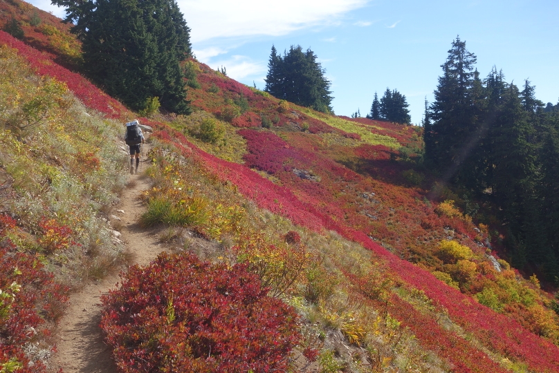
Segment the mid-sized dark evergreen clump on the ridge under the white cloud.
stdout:
<path fill-rule="evenodd" d="M 272 47 L 266 75 L 266 91 L 277 98 L 327 113 L 331 108 L 330 82 L 311 49 L 291 46 L 284 56 Z"/>

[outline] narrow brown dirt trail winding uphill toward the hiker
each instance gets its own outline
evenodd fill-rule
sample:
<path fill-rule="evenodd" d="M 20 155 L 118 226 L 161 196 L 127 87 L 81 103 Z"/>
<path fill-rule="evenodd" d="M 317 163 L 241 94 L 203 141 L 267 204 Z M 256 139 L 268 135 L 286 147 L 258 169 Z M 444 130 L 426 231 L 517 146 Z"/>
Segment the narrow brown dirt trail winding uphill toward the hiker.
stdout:
<path fill-rule="evenodd" d="M 147 150 L 146 144 L 145 154 Z M 138 226 L 138 218 L 145 208 L 137 197 L 148 188 L 147 178 L 142 175 L 131 176 L 129 187 L 122 193 L 122 204 L 118 207 L 125 213 L 116 213 L 122 219 L 120 240 L 131 251 L 132 262 L 139 265 L 148 264 L 163 251 L 158 237 Z M 104 344 L 99 327 L 99 298 L 114 287 L 118 280 L 118 274 L 111 274 L 97 283 L 86 285 L 82 291 L 70 297 L 66 315 L 60 321 L 57 333 L 57 353 L 51 361 L 56 370 L 62 368 L 64 373 L 116 372 L 116 365 L 111 359 L 109 347 Z"/>

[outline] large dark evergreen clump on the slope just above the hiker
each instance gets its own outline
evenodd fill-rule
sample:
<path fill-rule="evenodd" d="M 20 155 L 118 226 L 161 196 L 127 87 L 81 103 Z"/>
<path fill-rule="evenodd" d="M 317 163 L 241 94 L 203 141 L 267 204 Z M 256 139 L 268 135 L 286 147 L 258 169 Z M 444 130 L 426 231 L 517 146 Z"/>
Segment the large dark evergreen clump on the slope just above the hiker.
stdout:
<path fill-rule="evenodd" d="M 190 29 L 174 0 L 53 0 L 82 41 L 84 70 L 135 110 L 159 97 L 190 113 L 181 61 L 192 55 Z"/>

